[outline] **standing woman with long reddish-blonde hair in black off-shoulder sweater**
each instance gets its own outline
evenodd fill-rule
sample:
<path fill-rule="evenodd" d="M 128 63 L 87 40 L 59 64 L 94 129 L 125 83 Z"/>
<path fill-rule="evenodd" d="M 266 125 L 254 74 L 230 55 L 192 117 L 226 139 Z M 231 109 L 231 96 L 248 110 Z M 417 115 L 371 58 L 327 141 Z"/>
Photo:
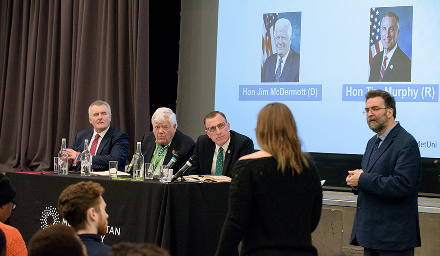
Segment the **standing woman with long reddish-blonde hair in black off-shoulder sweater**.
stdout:
<path fill-rule="evenodd" d="M 321 216 L 322 188 L 312 161 L 301 151 L 295 120 L 286 105 L 258 114 L 258 145 L 234 166 L 229 209 L 217 256 L 314 256 L 311 233 Z"/>

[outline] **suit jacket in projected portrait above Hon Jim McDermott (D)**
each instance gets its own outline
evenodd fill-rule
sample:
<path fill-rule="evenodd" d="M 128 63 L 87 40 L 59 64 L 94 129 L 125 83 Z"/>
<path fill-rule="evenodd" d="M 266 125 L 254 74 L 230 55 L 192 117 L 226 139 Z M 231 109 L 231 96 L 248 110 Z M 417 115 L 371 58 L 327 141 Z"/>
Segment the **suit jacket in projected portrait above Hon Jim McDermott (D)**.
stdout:
<path fill-rule="evenodd" d="M 299 57 L 300 54 L 290 48 L 279 82 L 299 81 Z M 261 82 L 274 82 L 275 69 L 278 68 L 277 58 L 278 54 L 275 53 L 270 55 L 264 62 Z"/>

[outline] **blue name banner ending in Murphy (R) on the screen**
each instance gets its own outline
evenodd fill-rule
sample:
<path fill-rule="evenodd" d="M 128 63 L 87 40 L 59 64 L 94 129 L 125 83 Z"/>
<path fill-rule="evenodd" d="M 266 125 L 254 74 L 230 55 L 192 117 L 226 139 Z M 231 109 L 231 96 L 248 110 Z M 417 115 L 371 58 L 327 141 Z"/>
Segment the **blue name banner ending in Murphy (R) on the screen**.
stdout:
<path fill-rule="evenodd" d="M 342 85 L 342 101 L 365 101 L 365 94 L 375 89 L 400 102 L 439 102 L 439 85 Z"/>

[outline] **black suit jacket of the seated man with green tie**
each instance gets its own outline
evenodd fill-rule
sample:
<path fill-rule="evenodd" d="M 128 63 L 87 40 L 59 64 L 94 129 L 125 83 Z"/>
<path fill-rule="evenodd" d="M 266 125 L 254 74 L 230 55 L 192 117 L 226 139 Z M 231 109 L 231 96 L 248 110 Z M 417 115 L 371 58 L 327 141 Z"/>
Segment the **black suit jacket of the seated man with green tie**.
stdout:
<path fill-rule="evenodd" d="M 231 141 L 225 153 L 223 171 L 221 173 L 228 177 L 232 177 L 232 167 L 240 157 L 254 152 L 254 143 L 251 139 L 233 130 L 230 133 Z M 194 154 L 198 156 L 198 161 L 191 166 L 189 174 L 211 174 L 215 150 L 216 144 L 208 135 L 200 135 L 196 142 L 196 149 L 194 149 Z"/>

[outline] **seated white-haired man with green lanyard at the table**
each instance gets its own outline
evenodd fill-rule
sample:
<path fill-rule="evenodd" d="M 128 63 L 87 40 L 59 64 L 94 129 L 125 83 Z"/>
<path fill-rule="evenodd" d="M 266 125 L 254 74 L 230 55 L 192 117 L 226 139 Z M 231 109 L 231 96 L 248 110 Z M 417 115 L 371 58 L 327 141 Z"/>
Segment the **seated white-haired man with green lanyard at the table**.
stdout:
<path fill-rule="evenodd" d="M 176 152 L 179 159 L 173 166 L 176 173 L 191 157 L 196 143 L 177 129 L 176 114 L 168 107 L 159 107 L 151 118 L 153 131 L 142 137 L 142 154 L 145 163 L 154 165 L 154 175 L 159 175 L 159 166 L 167 165 Z"/>

